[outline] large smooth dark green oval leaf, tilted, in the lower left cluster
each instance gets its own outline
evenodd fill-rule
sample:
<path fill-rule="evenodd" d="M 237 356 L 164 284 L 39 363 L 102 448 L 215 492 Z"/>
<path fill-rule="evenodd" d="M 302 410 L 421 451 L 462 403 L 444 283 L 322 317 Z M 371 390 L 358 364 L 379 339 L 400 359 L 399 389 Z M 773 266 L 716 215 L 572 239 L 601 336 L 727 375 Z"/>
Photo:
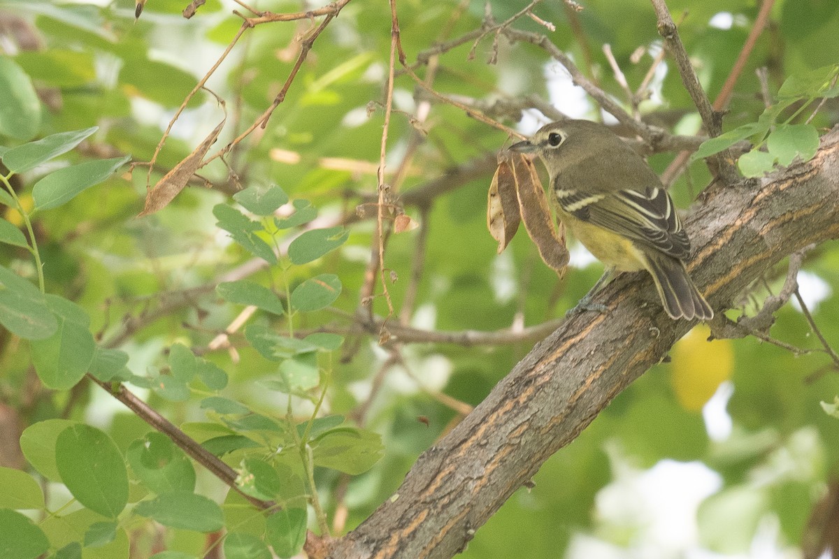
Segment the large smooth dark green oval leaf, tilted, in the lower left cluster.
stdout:
<path fill-rule="evenodd" d="M 100 515 L 116 518 L 128 503 L 128 472 L 117 445 L 89 425 L 60 432 L 55 462 L 61 481 L 76 499 Z"/>

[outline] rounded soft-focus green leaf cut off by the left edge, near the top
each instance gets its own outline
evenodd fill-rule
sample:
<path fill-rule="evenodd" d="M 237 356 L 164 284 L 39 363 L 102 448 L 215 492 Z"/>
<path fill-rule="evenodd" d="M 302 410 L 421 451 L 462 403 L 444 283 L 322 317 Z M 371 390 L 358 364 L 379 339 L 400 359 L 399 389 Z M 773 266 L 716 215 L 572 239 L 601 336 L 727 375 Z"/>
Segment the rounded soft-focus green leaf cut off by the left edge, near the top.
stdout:
<path fill-rule="evenodd" d="M 0 56 L 0 136 L 29 140 L 41 127 L 41 101 L 29 75 Z"/>

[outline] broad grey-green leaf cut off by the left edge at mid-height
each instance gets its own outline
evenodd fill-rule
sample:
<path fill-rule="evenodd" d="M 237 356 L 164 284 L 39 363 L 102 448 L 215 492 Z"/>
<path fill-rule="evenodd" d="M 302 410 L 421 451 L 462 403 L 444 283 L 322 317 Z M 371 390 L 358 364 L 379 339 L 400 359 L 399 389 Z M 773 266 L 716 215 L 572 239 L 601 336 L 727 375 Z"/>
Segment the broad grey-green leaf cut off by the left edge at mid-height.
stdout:
<path fill-rule="evenodd" d="M 0 324 L 23 339 L 44 339 L 55 334 L 58 321 L 44 293 L 31 282 L 0 266 Z"/>

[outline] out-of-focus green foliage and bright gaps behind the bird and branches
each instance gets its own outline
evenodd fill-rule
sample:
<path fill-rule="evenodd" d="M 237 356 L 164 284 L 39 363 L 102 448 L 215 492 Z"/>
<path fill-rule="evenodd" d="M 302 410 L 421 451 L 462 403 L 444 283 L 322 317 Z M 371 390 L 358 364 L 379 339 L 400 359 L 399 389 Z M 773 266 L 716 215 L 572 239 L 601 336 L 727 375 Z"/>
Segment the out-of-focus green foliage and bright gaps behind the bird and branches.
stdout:
<path fill-rule="evenodd" d="M 761 3 L 668 4 L 713 101 L 732 73 Z M 320 8 L 273 0 L 250 5 L 274 13 Z M 509 25 L 545 34 L 589 80 L 644 122 L 672 133 L 698 133 L 701 121 L 672 59 L 659 56 L 662 44 L 651 4 L 590 0 L 580 5 L 576 11 L 558 0 L 534 3 L 534 17 L 524 13 Z M 545 50 L 511 44 L 503 34 L 476 32 L 487 13 L 500 23 L 527 6 L 512 0 L 397 2 L 407 62 L 437 93 L 417 86 L 397 66 L 385 179 L 390 202 L 419 225 L 389 234 L 384 252 L 394 306 L 390 321 L 402 327 L 522 332 L 561 318 L 602 272 L 575 241 L 572 267 L 562 280 L 539 260 L 524 233 L 497 254 L 485 225 L 487 188 L 495 153 L 508 135 L 440 99 L 482 111 L 525 134 L 553 120 L 551 108 L 616 122 Z M 0 142 L 12 147 L 98 126 L 68 156 L 70 162 L 129 153 L 135 162 L 149 162 L 182 101 L 237 35 L 242 18 L 232 11 L 252 15 L 227 0 L 208 0 L 189 19 L 181 15 L 185 7 L 185 0 L 149 0 L 135 20 L 135 5 L 125 0 L 0 2 L 0 54 L 29 76 L 40 101 L 24 119 L 29 129 L 18 128 Z M 377 335 L 352 330 L 353 314 L 366 312 L 362 298 L 373 296 L 369 308 L 379 319 L 388 315 L 383 287 L 374 283 L 370 292 L 365 279 L 375 252 L 375 209 L 364 205 L 377 195 L 391 39 L 386 3 L 348 3 L 317 36 L 267 124 L 201 168 L 201 179 L 167 208 L 136 219 L 149 185 L 184 159 L 225 114 L 210 155 L 258 122 L 298 59 L 300 39 L 310 37 L 320 21 L 303 18 L 248 29 L 206 80 L 225 108 L 199 91 L 175 121 L 149 179 L 148 168 L 138 166 L 89 189 L 62 210 L 39 214 L 35 234 L 47 292 L 84 307 L 92 332 L 112 338 L 122 332 L 125 318 L 163 308 L 118 346 L 130 356 L 128 367 L 135 374 L 159 366 L 165 350 L 180 342 L 227 371 L 226 396 L 279 417 L 287 397 L 258 384 L 276 365 L 241 336 L 232 336 L 232 347 L 211 347 L 240 308 L 212 292 L 167 307 L 166 294 L 214 285 L 248 266 L 253 266 L 245 274 L 249 279 L 274 287 L 294 286 L 315 273 L 339 276 L 343 288 L 332 308 L 297 317 L 294 327 L 347 333 L 331 360 L 322 411 L 350 417 L 383 438 L 383 458 L 365 474 L 316 471 L 320 501 L 340 535 L 388 499 L 419 454 L 482 401 L 539 338 L 511 334 L 503 343 L 469 346 L 418 334 L 415 342 L 379 344 Z M 789 76 L 835 67 L 837 28 L 839 3 L 776 0 L 737 78 L 724 129 L 756 122 Z M 638 92 L 634 101 L 616 78 L 605 44 L 629 89 Z M 802 101 L 784 114 L 803 106 L 792 122 L 804 122 L 819 101 Z M 818 108 L 812 124 L 823 133 L 837 119 L 832 98 Z M 676 155 L 654 153 L 649 163 L 664 173 Z M 17 175 L 22 200 L 46 170 Z M 702 161 L 679 173 L 671 193 L 680 209 L 686 210 L 710 179 Z M 313 225 L 346 225 L 349 240 L 324 258 L 286 270 L 282 280 L 273 275 L 278 272 L 253 265 L 252 257 L 216 228 L 212 213 L 215 204 L 252 184 L 277 184 L 292 199 L 309 200 L 318 210 Z M 21 223 L 14 210 L 4 206 L 3 211 L 6 220 Z M 34 277 L 25 251 L 3 246 L 0 263 Z M 782 265 L 743 293 L 741 307 L 727 313 L 729 318 L 756 313 L 766 297 L 779 292 L 785 274 Z M 839 245 L 825 243 L 808 253 L 799 282 L 821 334 L 836 348 Z M 836 362 L 822 350 L 797 303 L 775 316 L 771 337 L 791 347 L 753 337 L 707 342 L 709 330 L 696 327 L 676 344 L 669 363 L 649 370 L 550 458 L 535 476 L 534 488 L 513 494 L 462 556 L 817 557 L 831 556 L 826 551 L 831 542 L 836 556 Z M 273 327 L 284 318 L 260 312 L 252 320 Z M 34 381 L 26 344 L 5 331 L 0 344 L 0 396 L 8 428 L 19 432 L 43 419 L 69 417 L 104 429 L 123 447 L 149 431 L 96 386 L 44 390 Z M 147 388 L 133 390 L 176 424 L 206 421 L 197 406 L 201 395 L 169 401 Z M 305 399 L 295 401 L 295 417 L 305 419 L 312 409 Z M 26 467 L 13 441 L 3 443 L 0 453 L 3 465 Z M 203 493 L 223 499 L 226 488 L 217 480 L 203 473 L 199 481 Z M 50 498 L 60 504 L 65 494 L 57 485 Z M 195 553 L 201 547 L 202 540 L 187 531 L 171 531 L 168 537 L 170 549 Z M 131 556 L 145 555 L 134 550 Z"/>

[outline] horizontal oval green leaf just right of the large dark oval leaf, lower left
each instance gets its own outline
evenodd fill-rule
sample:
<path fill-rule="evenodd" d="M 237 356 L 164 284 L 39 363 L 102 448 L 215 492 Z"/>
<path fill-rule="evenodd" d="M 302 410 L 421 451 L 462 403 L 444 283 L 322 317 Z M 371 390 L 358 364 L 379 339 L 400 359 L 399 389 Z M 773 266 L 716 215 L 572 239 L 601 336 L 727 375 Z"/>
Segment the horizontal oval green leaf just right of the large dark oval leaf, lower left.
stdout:
<path fill-rule="evenodd" d="M 221 507 L 215 501 L 190 491 L 158 495 L 155 499 L 138 503 L 134 512 L 170 528 L 213 532 L 224 527 Z"/>

